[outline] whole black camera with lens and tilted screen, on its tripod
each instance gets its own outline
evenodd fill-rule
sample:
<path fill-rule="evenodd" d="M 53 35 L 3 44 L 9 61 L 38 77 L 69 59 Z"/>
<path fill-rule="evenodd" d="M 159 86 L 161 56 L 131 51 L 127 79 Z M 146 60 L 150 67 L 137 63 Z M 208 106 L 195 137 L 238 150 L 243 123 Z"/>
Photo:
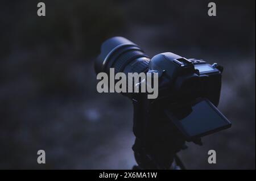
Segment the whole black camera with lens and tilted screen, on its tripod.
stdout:
<path fill-rule="evenodd" d="M 123 37 L 113 37 L 102 44 L 95 62 L 96 73 L 110 74 L 112 68 L 124 75 L 158 75 L 156 99 L 148 99 L 148 92 L 121 92 L 133 101 L 133 150 L 141 169 L 170 169 L 185 141 L 201 145 L 201 137 L 231 126 L 216 108 L 223 70 L 218 64 L 170 52 L 150 59 L 138 45 Z M 152 82 L 151 78 L 137 81 L 134 85 L 140 90 L 143 83 Z"/>

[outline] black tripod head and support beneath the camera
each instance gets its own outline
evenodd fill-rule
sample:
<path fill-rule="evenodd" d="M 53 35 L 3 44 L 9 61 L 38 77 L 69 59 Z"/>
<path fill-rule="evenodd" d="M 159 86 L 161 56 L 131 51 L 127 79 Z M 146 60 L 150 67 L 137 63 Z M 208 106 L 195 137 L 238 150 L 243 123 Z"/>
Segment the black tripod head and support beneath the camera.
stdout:
<path fill-rule="evenodd" d="M 133 169 L 185 169 L 177 157 L 177 152 L 185 149 L 185 140 L 170 120 L 159 118 L 161 108 L 148 107 L 148 99 L 133 99 L 134 127 L 136 136 L 133 145 L 134 157 L 138 166 Z"/>

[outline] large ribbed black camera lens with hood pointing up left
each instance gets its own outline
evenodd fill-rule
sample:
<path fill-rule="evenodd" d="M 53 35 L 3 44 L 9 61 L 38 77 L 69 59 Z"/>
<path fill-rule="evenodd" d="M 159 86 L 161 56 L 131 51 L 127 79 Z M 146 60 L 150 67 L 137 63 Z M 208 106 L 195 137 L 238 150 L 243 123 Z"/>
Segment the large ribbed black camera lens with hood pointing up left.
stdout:
<path fill-rule="evenodd" d="M 147 71 L 150 58 L 143 50 L 124 37 L 112 37 L 101 46 L 101 53 L 95 62 L 96 73 L 114 68 L 115 73 L 141 73 Z"/>

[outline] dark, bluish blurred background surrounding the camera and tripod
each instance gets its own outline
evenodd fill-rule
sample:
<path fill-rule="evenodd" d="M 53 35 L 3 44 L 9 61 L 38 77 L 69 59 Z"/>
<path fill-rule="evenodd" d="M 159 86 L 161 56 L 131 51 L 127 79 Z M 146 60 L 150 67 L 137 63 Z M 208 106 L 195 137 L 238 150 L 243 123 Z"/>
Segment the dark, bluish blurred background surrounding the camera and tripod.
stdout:
<path fill-rule="evenodd" d="M 254 0 L 214 1 L 216 17 L 201 0 L 43 1 L 45 17 L 38 2 L 0 2 L 0 169 L 131 169 L 133 106 L 96 90 L 93 61 L 112 36 L 223 65 L 218 108 L 233 127 L 179 155 L 187 169 L 255 169 Z"/>

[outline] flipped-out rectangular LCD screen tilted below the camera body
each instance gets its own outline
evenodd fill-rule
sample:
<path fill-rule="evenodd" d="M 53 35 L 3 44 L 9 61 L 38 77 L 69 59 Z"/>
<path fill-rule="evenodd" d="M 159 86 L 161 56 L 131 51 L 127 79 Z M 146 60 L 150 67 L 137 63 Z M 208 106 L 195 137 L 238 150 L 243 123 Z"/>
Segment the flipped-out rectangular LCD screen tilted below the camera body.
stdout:
<path fill-rule="evenodd" d="M 182 112 L 184 108 L 177 107 L 175 110 L 179 109 Z M 190 108 L 191 111 L 184 116 L 176 116 L 177 111 L 166 111 L 167 116 L 188 138 L 205 136 L 231 127 L 230 121 L 209 100 L 200 100 Z"/>

